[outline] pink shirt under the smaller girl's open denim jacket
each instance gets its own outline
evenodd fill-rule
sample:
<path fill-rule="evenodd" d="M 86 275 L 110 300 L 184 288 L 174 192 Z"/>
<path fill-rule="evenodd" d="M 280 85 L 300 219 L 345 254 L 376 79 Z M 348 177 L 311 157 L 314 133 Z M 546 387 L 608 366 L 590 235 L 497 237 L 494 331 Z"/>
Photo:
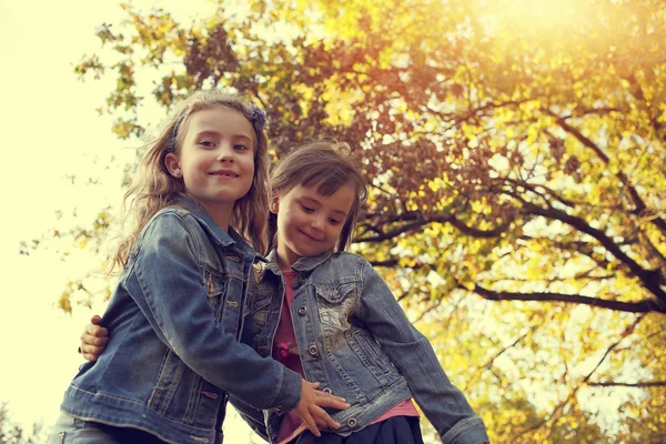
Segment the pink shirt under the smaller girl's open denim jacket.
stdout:
<path fill-rule="evenodd" d="M 301 357 L 299 356 L 294 325 L 291 317 L 291 305 L 294 301 L 294 291 L 291 286 L 291 282 L 295 278 L 296 273 L 292 270 L 282 270 L 282 274 L 284 275 L 284 303 L 282 304 L 282 312 L 280 314 L 278 330 L 275 331 L 273 359 L 280 361 L 287 369 L 293 370 L 303 379 L 305 379 L 303 365 L 301 364 Z M 416 411 L 412 400 L 405 400 L 395 407 L 391 408 L 389 412 L 377 417 L 372 422 L 372 424 L 376 424 L 394 416 L 418 416 L 418 412 Z M 278 443 L 289 443 L 306 428 L 307 427 L 301 421 L 299 415 L 296 415 L 294 412 L 289 412 L 282 420 L 282 425 L 280 426 L 280 433 L 278 435 Z"/>

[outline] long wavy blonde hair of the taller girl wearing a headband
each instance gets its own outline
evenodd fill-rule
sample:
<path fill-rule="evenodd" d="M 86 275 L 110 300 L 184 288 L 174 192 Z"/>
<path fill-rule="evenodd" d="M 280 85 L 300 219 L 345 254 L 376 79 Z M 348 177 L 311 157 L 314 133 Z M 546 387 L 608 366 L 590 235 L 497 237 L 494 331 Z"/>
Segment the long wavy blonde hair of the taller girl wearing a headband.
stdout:
<path fill-rule="evenodd" d="M 269 212 L 269 157 L 265 132 L 265 114 L 239 95 L 219 90 L 198 91 L 180 102 L 160 135 L 148 144 L 149 150 L 141 160 L 134 180 L 124 195 L 121 231 L 128 219 L 133 218 L 133 229 L 121 238 L 113 256 L 111 270 L 125 265 L 129 252 L 139 232 L 161 209 L 172 205 L 186 195 L 182 179 L 173 178 L 164 165 L 170 152 L 179 152 L 188 132 L 193 113 L 214 107 L 228 107 L 242 113 L 254 128 L 254 179 L 250 191 L 239 199 L 233 208 L 231 225 L 260 252 L 266 249 L 266 220 Z"/>

